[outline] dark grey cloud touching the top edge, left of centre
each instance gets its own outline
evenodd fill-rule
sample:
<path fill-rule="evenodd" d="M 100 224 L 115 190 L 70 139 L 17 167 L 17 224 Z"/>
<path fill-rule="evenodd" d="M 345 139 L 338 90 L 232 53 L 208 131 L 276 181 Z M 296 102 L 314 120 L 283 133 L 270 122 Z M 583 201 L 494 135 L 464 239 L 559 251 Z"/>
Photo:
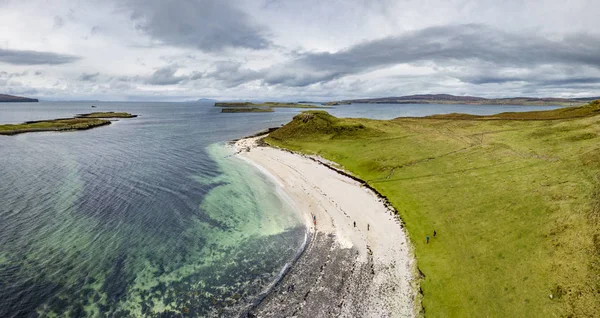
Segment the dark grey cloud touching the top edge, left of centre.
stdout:
<path fill-rule="evenodd" d="M 207 52 L 263 49 L 266 30 L 227 0 L 130 0 L 138 29 L 162 43 Z"/>

